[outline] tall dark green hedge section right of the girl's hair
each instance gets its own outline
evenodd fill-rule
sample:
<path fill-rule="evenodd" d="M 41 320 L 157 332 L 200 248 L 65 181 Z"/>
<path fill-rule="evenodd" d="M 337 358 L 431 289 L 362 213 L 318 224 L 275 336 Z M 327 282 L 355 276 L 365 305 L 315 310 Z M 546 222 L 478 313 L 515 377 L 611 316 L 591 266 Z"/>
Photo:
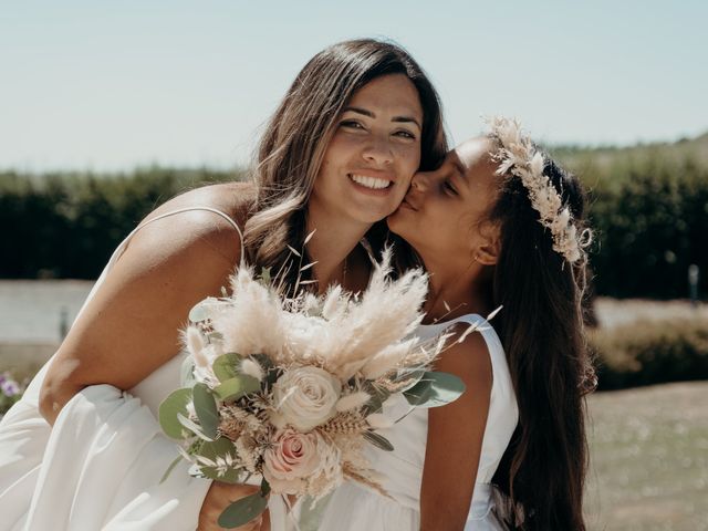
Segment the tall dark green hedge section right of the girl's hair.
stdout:
<path fill-rule="evenodd" d="M 708 169 L 646 160 L 591 189 L 595 290 L 614 298 L 688 296 L 688 267 L 700 268 L 708 292 Z"/>

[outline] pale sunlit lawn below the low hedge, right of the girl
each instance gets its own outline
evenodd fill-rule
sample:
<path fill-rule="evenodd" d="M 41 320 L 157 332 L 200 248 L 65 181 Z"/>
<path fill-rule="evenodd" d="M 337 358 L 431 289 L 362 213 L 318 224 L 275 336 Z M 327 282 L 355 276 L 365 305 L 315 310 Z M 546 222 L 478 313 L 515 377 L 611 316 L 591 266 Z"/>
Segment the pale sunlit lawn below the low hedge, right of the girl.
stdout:
<path fill-rule="evenodd" d="M 708 530 L 708 383 L 590 398 L 591 530 Z"/>

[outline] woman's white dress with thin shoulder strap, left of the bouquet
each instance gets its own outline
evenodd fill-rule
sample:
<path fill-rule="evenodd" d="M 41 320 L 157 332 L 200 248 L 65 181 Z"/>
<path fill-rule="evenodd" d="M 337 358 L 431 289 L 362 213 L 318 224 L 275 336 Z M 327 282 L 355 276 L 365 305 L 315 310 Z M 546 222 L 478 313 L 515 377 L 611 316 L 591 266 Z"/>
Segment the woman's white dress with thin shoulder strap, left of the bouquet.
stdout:
<path fill-rule="evenodd" d="M 210 210 L 236 227 L 208 207 L 150 221 L 185 210 Z M 114 251 L 86 302 L 136 230 Z M 183 460 L 160 483 L 178 454 L 162 433 L 157 410 L 180 386 L 184 356 L 175 355 L 127 393 L 111 385 L 84 388 L 53 428 L 38 408 L 50 360 L 0 423 L 0 531 L 194 531 L 211 481 L 190 477 Z M 271 503 L 275 520 L 284 518 L 281 504 Z"/>

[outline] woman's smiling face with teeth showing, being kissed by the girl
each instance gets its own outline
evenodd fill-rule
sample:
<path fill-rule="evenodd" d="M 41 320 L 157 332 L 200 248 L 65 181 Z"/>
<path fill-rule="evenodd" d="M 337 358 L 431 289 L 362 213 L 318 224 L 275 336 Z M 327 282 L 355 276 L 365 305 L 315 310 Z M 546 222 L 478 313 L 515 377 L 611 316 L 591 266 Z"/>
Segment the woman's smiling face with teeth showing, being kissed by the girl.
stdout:
<path fill-rule="evenodd" d="M 374 223 L 400 204 L 420 164 L 423 107 L 403 74 L 376 77 L 344 106 L 324 153 L 309 209 Z"/>

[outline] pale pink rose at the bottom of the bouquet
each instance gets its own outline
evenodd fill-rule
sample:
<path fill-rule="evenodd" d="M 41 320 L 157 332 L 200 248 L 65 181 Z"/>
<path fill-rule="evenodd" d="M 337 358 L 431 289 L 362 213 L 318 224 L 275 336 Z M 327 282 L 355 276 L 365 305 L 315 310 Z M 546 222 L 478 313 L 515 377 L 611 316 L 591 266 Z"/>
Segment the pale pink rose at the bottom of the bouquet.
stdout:
<path fill-rule="evenodd" d="M 305 480 L 320 466 L 320 435 L 301 434 L 292 428 L 275 433 L 272 446 L 263 454 L 263 477 L 274 492 L 299 494 Z"/>

